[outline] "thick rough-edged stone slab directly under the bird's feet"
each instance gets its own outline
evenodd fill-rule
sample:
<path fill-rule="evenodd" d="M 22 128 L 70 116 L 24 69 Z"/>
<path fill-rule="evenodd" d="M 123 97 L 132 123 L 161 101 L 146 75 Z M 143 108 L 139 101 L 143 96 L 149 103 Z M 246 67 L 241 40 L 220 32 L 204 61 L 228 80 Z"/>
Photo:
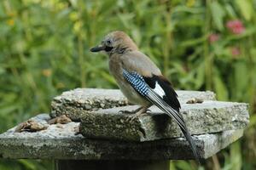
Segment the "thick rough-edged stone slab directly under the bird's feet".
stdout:
<path fill-rule="evenodd" d="M 180 137 L 177 123 L 155 106 L 150 113 L 131 122 L 129 114 L 138 106 L 84 112 L 81 116 L 80 132 L 89 138 L 148 141 Z M 202 104 L 183 104 L 181 114 L 191 134 L 216 133 L 247 126 L 249 115 L 247 104 L 205 101 Z"/>

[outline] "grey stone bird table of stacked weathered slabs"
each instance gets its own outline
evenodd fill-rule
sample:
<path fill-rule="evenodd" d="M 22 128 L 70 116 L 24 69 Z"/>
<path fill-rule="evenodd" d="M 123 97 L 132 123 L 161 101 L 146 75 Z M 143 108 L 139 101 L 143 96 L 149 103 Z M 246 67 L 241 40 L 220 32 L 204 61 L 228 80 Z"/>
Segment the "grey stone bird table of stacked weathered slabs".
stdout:
<path fill-rule="evenodd" d="M 212 92 L 177 94 L 203 158 L 241 138 L 249 122 L 247 104 L 217 101 Z M 129 105 L 119 90 L 65 92 L 53 99 L 49 114 L 28 121 L 42 128 L 30 129 L 30 125 L 22 130 L 21 124 L 0 134 L 0 157 L 53 159 L 58 170 L 167 170 L 169 160 L 194 159 L 176 122 L 156 107 L 132 121 L 131 115 L 120 112 L 137 107 Z M 64 115 L 72 122 L 52 122 Z"/>

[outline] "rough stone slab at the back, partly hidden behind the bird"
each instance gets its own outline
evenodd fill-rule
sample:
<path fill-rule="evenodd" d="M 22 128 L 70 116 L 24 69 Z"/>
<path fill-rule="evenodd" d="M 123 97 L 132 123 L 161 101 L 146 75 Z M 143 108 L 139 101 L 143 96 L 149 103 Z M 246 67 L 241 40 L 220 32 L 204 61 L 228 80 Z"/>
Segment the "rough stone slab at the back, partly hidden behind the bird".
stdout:
<path fill-rule="evenodd" d="M 181 103 L 198 98 L 214 100 L 212 92 L 177 91 Z M 117 89 L 77 88 L 55 97 L 51 103 L 50 116 L 67 115 L 78 121 L 81 113 L 128 105 L 127 99 Z"/>

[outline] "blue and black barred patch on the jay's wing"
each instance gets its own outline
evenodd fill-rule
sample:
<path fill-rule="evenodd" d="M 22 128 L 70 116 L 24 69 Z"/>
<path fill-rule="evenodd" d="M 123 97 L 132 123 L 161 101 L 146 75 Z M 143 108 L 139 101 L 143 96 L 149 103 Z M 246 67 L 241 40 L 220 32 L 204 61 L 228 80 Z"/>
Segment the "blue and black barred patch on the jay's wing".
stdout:
<path fill-rule="evenodd" d="M 123 76 L 125 79 L 131 83 L 131 86 L 139 93 L 142 94 L 143 96 L 148 95 L 148 84 L 145 82 L 143 77 L 139 75 L 137 72 L 132 71 L 125 71 L 123 69 Z"/>

